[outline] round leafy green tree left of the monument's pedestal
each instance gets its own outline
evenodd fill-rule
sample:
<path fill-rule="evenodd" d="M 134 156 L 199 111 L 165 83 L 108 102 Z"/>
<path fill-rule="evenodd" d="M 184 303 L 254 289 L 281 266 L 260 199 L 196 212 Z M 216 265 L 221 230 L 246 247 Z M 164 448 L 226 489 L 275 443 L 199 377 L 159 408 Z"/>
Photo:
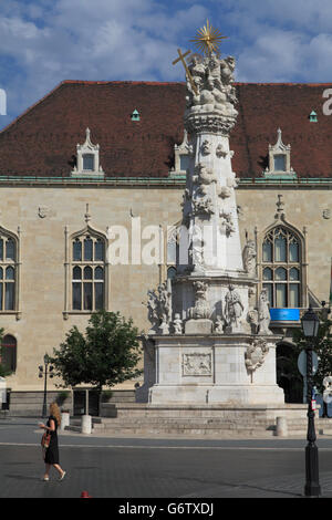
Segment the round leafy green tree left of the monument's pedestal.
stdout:
<path fill-rule="evenodd" d="M 126 321 L 118 312 L 95 312 L 85 334 L 73 326 L 60 349 L 54 349 L 54 373 L 62 377 L 62 386 L 87 384 L 100 393 L 104 385 L 137 377 L 142 373 L 136 366 L 141 358 L 137 337 L 132 319 Z"/>

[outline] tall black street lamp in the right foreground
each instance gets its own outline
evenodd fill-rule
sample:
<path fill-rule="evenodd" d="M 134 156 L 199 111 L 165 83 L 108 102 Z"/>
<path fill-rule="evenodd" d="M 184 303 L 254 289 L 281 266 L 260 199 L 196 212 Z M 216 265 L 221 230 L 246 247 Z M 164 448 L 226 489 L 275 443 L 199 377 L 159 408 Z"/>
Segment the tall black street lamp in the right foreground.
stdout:
<path fill-rule="evenodd" d="M 315 445 L 315 430 L 314 430 L 314 409 L 312 407 L 312 341 L 318 335 L 320 320 L 310 305 L 309 310 L 301 319 L 302 331 L 307 340 L 307 402 L 308 402 L 308 445 L 305 447 L 305 497 L 319 497 L 321 495 L 321 487 L 319 482 L 319 457 L 318 447 Z"/>

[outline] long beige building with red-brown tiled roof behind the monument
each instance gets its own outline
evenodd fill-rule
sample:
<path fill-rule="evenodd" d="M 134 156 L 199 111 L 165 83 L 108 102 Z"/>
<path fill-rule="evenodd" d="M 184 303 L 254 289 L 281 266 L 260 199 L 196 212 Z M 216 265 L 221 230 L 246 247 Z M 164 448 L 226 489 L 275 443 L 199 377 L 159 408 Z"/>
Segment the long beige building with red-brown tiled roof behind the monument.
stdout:
<path fill-rule="evenodd" d="M 329 86 L 236 85 L 230 143 L 242 248 L 252 245 L 259 280 L 253 308 L 262 288 L 273 309 L 329 299 Z M 175 270 L 184 107 L 183 83 L 63 82 L 0 133 L 0 326 L 13 391 L 42 389 L 44 354 L 95 310 L 148 330 L 147 291 Z M 271 323 L 286 341 L 294 326 Z"/>

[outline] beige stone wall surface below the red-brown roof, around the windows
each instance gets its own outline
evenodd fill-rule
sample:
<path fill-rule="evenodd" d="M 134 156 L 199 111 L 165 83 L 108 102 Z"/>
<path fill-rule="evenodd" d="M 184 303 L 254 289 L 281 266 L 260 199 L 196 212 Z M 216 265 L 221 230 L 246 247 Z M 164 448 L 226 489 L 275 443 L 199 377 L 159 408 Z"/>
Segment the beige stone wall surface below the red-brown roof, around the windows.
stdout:
<path fill-rule="evenodd" d="M 87 324 L 90 314 L 70 313 L 66 320 L 63 314 L 65 227 L 69 235 L 83 229 L 89 204 L 90 226 L 104 233 L 107 227 L 121 225 L 127 228 L 131 237 L 132 216 L 142 218 L 142 229 L 148 225 L 166 228 L 180 219 L 183 193 L 183 186 L 0 187 L 0 225 L 14 233 L 20 227 L 21 232 L 21 315 L 1 315 L 4 333 L 12 334 L 18 342 L 17 372 L 7 379 L 9 387 L 13 391 L 41 389 L 43 382 L 38 378 L 38 366 L 43 355 L 51 354 L 73 325 L 84 330 Z M 260 232 L 273 223 L 278 194 L 283 195 L 287 221 L 301 232 L 303 226 L 307 227 L 309 288 L 319 300 L 328 300 L 331 220 L 323 217 L 323 211 L 331 208 L 329 189 L 240 187 L 237 204 L 240 206 L 242 247 L 246 230 L 252 237 L 257 227 L 260 237 Z M 147 331 L 147 313 L 142 302 L 147 299 L 147 289 L 155 288 L 164 279 L 165 267 L 114 266 L 110 272 L 108 310 L 132 316 L 139 331 Z M 54 385 L 55 381 L 50 383 Z M 122 387 L 133 388 L 133 382 Z M 52 385 L 50 388 L 55 389 Z"/>

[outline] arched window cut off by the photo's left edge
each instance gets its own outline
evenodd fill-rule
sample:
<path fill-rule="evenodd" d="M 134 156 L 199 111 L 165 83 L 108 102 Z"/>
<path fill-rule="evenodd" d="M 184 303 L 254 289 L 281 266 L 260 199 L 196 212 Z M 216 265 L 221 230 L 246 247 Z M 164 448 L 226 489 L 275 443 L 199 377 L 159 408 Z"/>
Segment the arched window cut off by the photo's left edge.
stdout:
<path fill-rule="evenodd" d="M 13 237 L 0 235 L 0 312 L 17 310 L 18 246 Z"/>

